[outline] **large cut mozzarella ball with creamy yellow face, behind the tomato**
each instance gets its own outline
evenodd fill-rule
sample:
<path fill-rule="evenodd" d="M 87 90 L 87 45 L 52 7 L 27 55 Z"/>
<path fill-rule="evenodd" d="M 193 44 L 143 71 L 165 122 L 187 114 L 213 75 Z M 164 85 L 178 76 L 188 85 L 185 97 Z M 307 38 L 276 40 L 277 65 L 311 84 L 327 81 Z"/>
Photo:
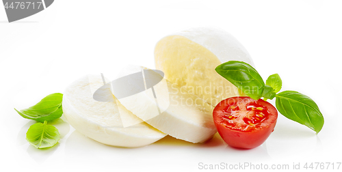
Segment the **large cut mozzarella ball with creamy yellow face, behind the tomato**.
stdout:
<path fill-rule="evenodd" d="M 230 33 L 221 29 L 200 27 L 168 35 L 155 46 L 155 67 L 166 78 L 194 92 L 215 106 L 221 100 L 238 96 L 237 87 L 215 72 L 226 61 L 252 59 Z"/>

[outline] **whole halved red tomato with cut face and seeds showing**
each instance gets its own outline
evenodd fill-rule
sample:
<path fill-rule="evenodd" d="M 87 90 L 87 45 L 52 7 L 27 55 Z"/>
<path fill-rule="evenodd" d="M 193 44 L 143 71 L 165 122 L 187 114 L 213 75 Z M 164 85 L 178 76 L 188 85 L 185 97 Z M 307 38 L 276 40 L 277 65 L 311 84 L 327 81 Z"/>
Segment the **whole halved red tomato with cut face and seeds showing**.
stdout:
<path fill-rule="evenodd" d="M 213 120 L 222 139 L 232 147 L 252 149 L 261 145 L 276 126 L 278 112 L 264 100 L 233 97 L 213 110 Z"/>

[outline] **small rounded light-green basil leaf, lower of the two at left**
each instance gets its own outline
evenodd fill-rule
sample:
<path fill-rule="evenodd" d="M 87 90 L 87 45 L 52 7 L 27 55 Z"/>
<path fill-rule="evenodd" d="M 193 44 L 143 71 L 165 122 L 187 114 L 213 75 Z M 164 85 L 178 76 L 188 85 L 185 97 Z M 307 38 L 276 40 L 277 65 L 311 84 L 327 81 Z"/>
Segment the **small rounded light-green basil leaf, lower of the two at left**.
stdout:
<path fill-rule="evenodd" d="M 29 127 L 26 132 L 26 140 L 36 148 L 53 147 L 60 140 L 60 132 L 57 128 L 38 122 Z"/>

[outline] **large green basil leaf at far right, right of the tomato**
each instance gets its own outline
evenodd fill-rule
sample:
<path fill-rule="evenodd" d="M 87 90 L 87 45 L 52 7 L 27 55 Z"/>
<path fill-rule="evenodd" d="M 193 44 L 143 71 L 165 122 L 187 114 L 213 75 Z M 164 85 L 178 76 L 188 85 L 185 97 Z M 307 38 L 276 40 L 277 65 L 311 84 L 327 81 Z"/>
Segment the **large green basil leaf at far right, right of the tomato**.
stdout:
<path fill-rule="evenodd" d="M 317 104 L 297 91 L 282 91 L 276 95 L 276 107 L 285 117 L 308 126 L 316 132 L 321 130 L 324 118 Z"/>

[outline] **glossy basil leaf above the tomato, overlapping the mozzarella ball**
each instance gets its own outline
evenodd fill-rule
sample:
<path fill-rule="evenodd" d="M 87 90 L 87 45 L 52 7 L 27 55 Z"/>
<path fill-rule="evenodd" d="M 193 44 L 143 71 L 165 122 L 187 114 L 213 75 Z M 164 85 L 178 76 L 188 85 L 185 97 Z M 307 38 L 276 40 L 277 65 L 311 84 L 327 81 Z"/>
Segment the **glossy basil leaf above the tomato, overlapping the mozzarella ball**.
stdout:
<path fill-rule="evenodd" d="M 216 67 L 215 70 L 250 98 L 254 100 L 261 98 L 265 83 L 257 70 L 248 63 L 228 61 Z"/>

